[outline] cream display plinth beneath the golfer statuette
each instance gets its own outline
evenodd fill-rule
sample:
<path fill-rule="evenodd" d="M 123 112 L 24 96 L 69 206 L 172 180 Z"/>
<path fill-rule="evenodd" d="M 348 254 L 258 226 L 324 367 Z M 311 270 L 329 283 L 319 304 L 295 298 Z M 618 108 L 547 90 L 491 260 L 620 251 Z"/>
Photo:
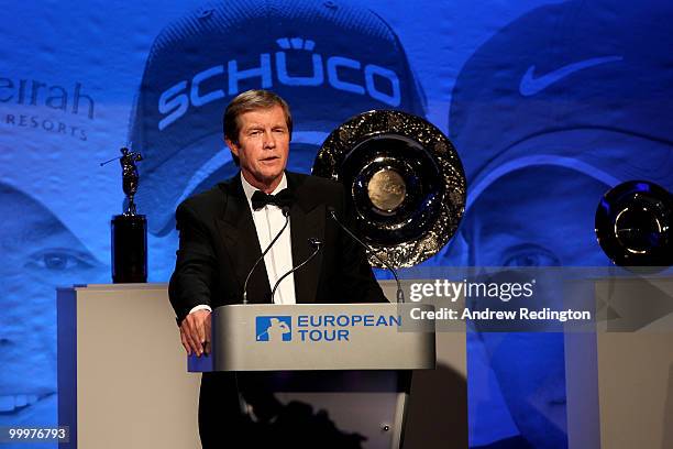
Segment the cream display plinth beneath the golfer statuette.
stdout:
<path fill-rule="evenodd" d="M 199 448 L 200 375 L 186 372 L 166 285 L 63 288 L 57 300 L 60 447 Z"/>

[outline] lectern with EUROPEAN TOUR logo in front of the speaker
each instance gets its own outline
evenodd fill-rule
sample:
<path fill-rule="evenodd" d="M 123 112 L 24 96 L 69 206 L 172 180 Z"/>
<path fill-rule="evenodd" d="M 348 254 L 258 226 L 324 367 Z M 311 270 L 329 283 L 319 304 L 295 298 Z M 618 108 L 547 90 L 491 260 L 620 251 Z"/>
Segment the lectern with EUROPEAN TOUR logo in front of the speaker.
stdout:
<path fill-rule="evenodd" d="M 401 330 L 396 304 L 232 305 L 212 315 L 212 351 L 188 358 L 191 372 L 240 377 L 250 419 L 301 409 L 367 449 L 399 448 L 412 370 L 434 369 L 434 332 Z M 268 397 L 246 401 L 252 385 Z M 261 409 L 274 404 L 274 410 Z"/>

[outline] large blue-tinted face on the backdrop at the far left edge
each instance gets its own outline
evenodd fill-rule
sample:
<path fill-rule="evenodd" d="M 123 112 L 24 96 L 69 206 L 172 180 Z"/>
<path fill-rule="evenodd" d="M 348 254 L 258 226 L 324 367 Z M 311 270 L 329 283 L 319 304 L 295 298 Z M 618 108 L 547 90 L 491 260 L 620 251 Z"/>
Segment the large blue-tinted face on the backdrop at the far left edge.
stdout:
<path fill-rule="evenodd" d="M 42 204 L 0 184 L 0 426 L 56 423 L 56 286 L 109 271 Z"/>

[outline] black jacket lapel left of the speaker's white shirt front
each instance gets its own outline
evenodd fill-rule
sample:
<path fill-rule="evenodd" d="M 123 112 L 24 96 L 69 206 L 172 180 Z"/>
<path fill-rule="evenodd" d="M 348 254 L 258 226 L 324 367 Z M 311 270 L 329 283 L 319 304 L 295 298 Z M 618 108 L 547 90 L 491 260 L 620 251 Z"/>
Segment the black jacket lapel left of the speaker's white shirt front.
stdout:
<path fill-rule="evenodd" d="M 252 212 L 245 199 L 240 174 L 220 184 L 227 196 L 224 211 L 218 220 L 224 249 L 229 254 L 231 266 L 235 273 L 239 292 L 236 302 L 243 300 L 245 277 L 255 261 L 262 255 L 260 240 L 252 219 Z M 266 275 L 266 265 L 261 261 L 247 283 L 249 303 L 267 303 L 271 297 L 271 286 Z"/>

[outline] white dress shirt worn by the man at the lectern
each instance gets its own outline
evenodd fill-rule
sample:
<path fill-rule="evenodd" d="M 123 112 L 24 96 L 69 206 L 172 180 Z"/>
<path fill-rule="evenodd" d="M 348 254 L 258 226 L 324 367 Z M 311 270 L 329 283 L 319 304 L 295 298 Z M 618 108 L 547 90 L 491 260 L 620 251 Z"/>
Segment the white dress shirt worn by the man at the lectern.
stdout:
<path fill-rule="evenodd" d="M 275 205 L 266 205 L 260 210 L 254 210 L 252 207 L 252 196 L 258 190 L 253 187 L 243 175 L 241 175 L 241 183 L 243 184 L 243 191 L 245 193 L 245 199 L 247 206 L 253 216 L 253 222 L 255 230 L 257 231 L 257 240 L 260 241 L 260 248 L 262 251 L 268 247 L 274 237 L 280 231 L 283 225 L 285 225 L 285 217 L 279 207 Z M 280 184 L 272 191 L 272 195 L 276 195 L 278 191 L 287 187 L 287 178 L 285 173 L 280 179 Z M 285 231 L 280 234 L 280 238 L 274 243 L 274 247 L 264 256 L 264 265 L 266 265 L 266 276 L 268 277 L 268 285 L 274 288 L 278 278 L 285 273 L 293 269 L 293 243 L 290 239 L 290 226 L 287 225 Z M 260 267 L 255 267 L 260 270 Z M 286 276 L 274 295 L 274 304 L 296 304 L 297 299 L 295 296 L 295 274 Z M 189 313 L 196 310 L 211 310 L 210 306 L 206 304 L 194 307 Z"/>

